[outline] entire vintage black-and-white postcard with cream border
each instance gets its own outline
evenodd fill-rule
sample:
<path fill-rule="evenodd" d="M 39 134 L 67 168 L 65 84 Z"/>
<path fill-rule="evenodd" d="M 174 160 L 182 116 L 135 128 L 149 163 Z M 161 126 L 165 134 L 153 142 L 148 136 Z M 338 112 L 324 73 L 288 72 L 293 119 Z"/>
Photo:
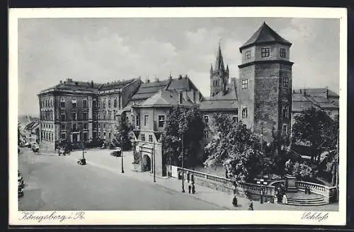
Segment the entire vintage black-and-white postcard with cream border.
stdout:
<path fill-rule="evenodd" d="M 9 88 L 10 225 L 346 223 L 345 8 L 10 8 Z"/>

